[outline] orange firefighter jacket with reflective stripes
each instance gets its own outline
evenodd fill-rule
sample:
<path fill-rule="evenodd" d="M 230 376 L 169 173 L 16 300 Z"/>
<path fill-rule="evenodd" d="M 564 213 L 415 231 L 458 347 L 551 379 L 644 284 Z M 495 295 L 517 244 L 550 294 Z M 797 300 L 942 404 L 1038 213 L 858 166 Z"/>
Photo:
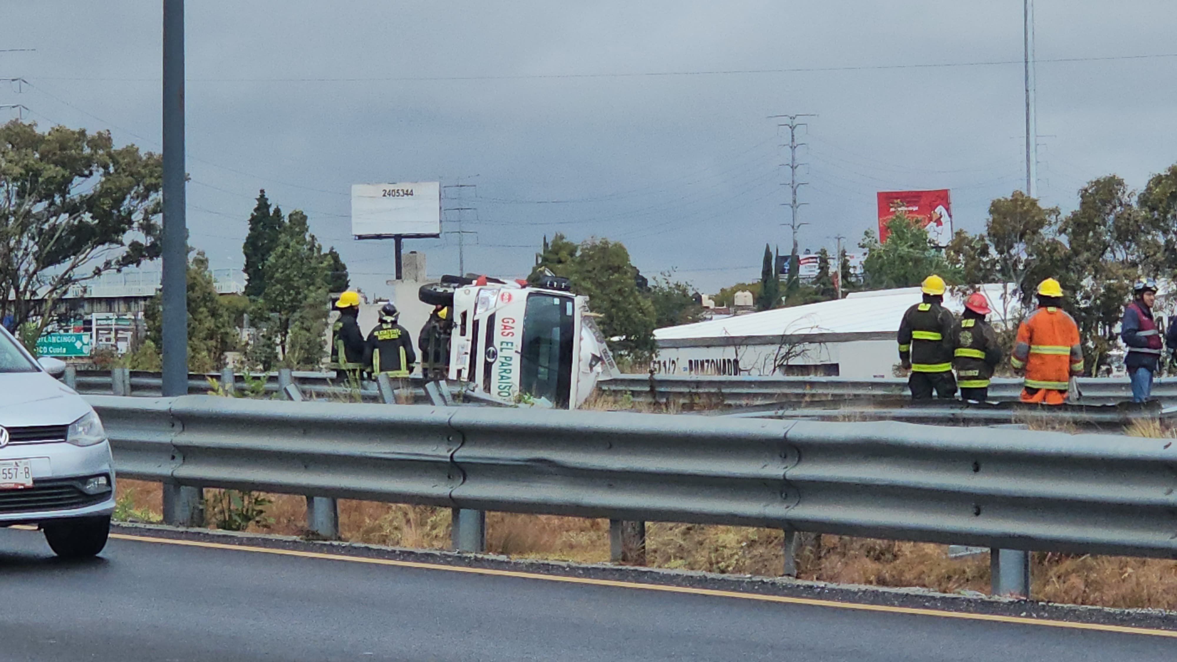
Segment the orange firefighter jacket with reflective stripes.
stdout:
<path fill-rule="evenodd" d="M 1026 388 L 1066 390 L 1071 375 L 1083 374 L 1079 327 L 1058 308 L 1038 308 L 1018 327 L 1010 363 L 1025 369 Z"/>

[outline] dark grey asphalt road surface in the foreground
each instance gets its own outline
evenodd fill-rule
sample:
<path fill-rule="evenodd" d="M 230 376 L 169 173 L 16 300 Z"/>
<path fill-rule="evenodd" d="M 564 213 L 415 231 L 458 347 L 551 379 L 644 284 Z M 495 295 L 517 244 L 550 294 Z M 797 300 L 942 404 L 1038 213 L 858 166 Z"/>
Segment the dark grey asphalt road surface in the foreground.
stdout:
<path fill-rule="evenodd" d="M 0 660 L 1164 660 L 1177 640 L 0 529 Z"/>

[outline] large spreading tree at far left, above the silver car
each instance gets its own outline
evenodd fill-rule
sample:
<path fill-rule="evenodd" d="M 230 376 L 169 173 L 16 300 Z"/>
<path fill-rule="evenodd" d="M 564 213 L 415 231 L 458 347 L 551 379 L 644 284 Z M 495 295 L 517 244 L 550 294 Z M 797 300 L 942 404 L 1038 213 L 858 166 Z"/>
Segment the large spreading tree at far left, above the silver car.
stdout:
<path fill-rule="evenodd" d="M 0 319 L 36 334 L 66 292 L 159 256 L 162 166 L 109 132 L 0 126 Z"/>

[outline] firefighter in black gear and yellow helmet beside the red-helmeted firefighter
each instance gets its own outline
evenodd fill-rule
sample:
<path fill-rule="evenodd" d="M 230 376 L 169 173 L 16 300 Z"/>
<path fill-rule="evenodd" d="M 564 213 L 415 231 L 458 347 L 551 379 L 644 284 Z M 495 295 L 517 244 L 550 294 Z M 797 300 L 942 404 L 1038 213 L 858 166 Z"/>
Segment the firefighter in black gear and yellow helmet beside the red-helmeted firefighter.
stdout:
<path fill-rule="evenodd" d="M 955 320 L 944 303 L 944 279 L 932 274 L 924 279 L 923 303 L 903 314 L 899 323 L 899 361 L 911 370 L 907 386 L 912 400 L 956 396 L 952 377 L 952 327 Z"/>

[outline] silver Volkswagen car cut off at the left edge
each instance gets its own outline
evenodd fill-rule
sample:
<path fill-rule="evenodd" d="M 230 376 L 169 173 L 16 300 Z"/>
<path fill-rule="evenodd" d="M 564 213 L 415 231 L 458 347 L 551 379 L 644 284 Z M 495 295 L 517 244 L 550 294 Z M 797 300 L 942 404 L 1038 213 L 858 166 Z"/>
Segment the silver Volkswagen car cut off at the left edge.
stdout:
<path fill-rule="evenodd" d="M 0 527 L 36 524 L 58 556 L 106 547 L 114 469 L 102 422 L 56 380 L 56 359 L 33 359 L 0 328 Z"/>

